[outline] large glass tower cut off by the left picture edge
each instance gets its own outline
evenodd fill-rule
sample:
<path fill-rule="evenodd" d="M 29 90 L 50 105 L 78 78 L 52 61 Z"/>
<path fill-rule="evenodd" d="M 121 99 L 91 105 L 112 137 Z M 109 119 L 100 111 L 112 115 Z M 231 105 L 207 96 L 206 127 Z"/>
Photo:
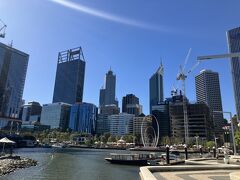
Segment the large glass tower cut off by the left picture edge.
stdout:
<path fill-rule="evenodd" d="M 29 55 L 0 43 L 0 116 L 17 118 Z"/>

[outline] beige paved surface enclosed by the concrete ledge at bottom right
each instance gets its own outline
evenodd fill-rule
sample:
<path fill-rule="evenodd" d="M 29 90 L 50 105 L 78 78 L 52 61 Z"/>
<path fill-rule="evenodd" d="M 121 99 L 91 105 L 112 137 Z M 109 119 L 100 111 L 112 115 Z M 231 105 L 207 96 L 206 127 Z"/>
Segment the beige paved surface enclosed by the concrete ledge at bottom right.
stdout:
<path fill-rule="evenodd" d="M 153 175 L 158 180 L 230 180 L 231 172 L 236 170 L 156 172 Z"/>

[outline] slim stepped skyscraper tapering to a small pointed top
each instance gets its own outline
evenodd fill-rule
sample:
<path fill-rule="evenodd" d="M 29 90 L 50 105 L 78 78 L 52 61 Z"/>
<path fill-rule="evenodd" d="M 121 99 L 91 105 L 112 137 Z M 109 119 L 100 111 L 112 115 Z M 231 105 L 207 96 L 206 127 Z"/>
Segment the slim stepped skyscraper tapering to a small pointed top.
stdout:
<path fill-rule="evenodd" d="M 116 75 L 113 74 L 112 70 L 110 69 L 104 81 L 104 87 L 100 89 L 100 98 L 99 98 L 99 107 L 105 105 L 115 104 L 118 106 L 118 101 L 115 97 L 116 91 Z"/>

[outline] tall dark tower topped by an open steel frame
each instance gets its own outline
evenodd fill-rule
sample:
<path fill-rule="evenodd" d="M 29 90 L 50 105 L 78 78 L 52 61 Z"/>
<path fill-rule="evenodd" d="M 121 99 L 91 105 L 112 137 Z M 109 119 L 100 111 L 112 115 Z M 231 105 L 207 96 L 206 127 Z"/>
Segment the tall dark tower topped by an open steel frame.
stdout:
<path fill-rule="evenodd" d="M 81 47 L 59 52 L 53 103 L 82 102 L 84 76 L 85 60 Z"/>

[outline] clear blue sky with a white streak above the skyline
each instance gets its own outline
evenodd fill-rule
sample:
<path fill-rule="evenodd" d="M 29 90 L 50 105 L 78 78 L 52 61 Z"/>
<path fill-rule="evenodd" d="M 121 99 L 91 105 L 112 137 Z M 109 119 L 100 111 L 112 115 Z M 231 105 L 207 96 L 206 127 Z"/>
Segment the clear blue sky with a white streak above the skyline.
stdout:
<path fill-rule="evenodd" d="M 60 1 L 59 1 L 60 2 Z M 86 59 L 84 101 L 98 105 L 99 89 L 110 66 L 117 75 L 116 95 L 140 98 L 149 110 L 149 78 L 160 59 L 165 67 L 164 95 L 170 96 L 179 65 L 192 48 L 196 56 L 226 53 L 226 31 L 240 26 L 240 1 L 231 0 L 1 0 L 6 38 L 30 54 L 23 98 L 51 103 L 59 51 L 81 46 Z M 67 2 L 67 3 L 66 3 Z M 63 6 L 65 5 L 65 6 Z M 186 81 L 196 99 L 194 76 L 201 69 L 219 72 L 223 109 L 235 112 L 228 60 L 201 63 Z"/>

